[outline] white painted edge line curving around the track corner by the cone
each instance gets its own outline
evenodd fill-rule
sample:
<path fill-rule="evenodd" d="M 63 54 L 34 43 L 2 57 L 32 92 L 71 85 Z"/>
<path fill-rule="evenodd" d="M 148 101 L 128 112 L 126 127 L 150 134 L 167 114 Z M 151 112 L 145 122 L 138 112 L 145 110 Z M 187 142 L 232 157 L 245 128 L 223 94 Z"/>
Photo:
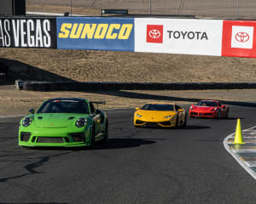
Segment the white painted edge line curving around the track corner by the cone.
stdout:
<path fill-rule="evenodd" d="M 253 126 L 253 127 L 256 127 L 256 126 Z M 253 127 L 247 128 L 245 130 L 251 129 Z M 239 156 L 237 156 L 236 153 L 234 153 L 232 150 L 230 150 L 228 139 L 230 139 L 233 135 L 234 135 L 234 133 L 231 133 L 229 136 L 227 136 L 224 139 L 224 141 L 223 141 L 224 148 L 230 153 L 231 156 L 233 156 L 235 158 L 235 160 L 241 165 L 241 167 L 243 167 L 247 171 L 247 173 L 249 173 L 256 180 L 256 173 L 253 171 L 253 169 L 248 167 L 247 162 L 241 161 Z"/>

